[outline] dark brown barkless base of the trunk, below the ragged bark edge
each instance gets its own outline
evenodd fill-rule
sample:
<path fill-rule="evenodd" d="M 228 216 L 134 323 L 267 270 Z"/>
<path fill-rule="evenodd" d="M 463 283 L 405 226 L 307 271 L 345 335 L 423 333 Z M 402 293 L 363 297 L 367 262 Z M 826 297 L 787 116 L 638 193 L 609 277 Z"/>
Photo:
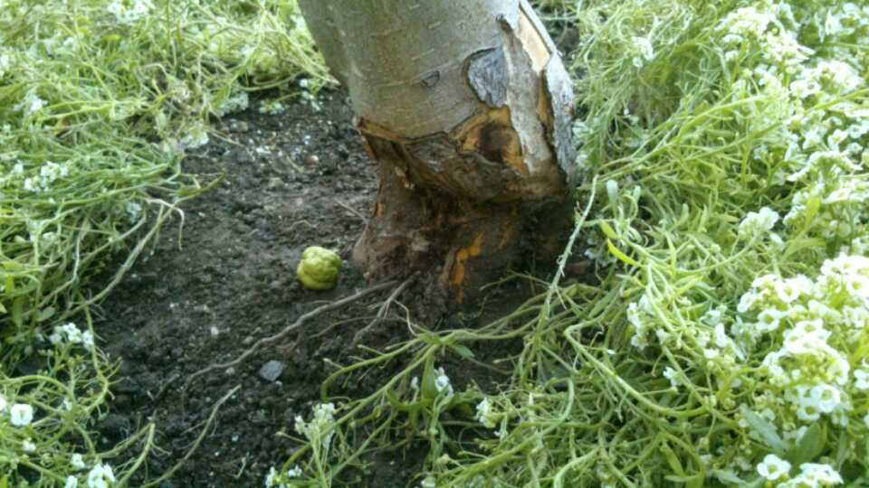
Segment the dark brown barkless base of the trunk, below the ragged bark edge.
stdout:
<path fill-rule="evenodd" d="M 419 169 L 419 160 L 408 157 L 406 145 L 367 139 L 379 161 L 380 188 L 353 258 L 369 280 L 418 272 L 435 285 L 430 289 L 444 292 L 447 302 L 463 304 L 473 303 L 482 286 L 510 269 L 554 265 L 573 224 L 567 192 L 506 202 L 444 192 L 451 188 L 443 184 L 445 175 L 435 187 L 412 171 Z M 491 174 L 485 178 L 489 188 L 498 181 Z"/>

